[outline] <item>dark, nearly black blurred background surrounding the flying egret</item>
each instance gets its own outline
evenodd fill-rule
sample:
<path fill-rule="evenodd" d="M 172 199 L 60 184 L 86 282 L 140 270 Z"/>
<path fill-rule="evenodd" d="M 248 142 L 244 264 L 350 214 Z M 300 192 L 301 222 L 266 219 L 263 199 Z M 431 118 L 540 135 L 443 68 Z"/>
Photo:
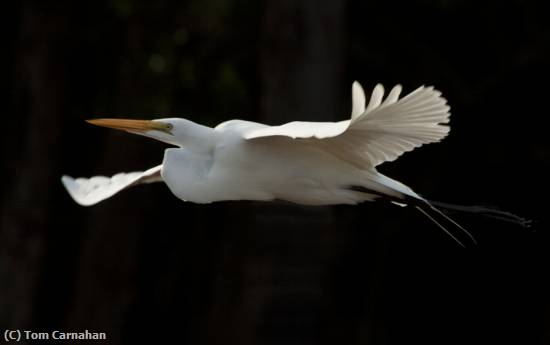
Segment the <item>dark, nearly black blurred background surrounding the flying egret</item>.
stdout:
<path fill-rule="evenodd" d="M 543 3 L 6 2 L 0 328 L 125 344 L 549 344 Z M 195 205 L 154 184 L 82 208 L 59 181 L 161 161 L 163 144 L 84 119 L 341 120 L 353 80 L 435 85 L 452 106 L 447 139 L 383 173 L 536 231 L 457 214 L 479 242 L 463 249 L 389 205 Z"/>

